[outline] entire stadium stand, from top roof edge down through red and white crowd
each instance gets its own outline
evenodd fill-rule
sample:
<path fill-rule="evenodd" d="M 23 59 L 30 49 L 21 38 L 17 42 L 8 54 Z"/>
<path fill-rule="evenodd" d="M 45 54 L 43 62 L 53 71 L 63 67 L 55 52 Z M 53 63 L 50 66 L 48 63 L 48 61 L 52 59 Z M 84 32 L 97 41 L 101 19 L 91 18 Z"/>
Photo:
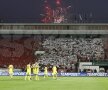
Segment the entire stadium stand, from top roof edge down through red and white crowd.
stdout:
<path fill-rule="evenodd" d="M 74 72 L 78 62 L 108 61 L 107 30 L 108 24 L 94 23 L 0 23 L 0 67 L 24 68 L 38 61 L 41 70 L 56 64 L 60 71 Z M 40 50 L 45 54 L 34 54 Z"/>

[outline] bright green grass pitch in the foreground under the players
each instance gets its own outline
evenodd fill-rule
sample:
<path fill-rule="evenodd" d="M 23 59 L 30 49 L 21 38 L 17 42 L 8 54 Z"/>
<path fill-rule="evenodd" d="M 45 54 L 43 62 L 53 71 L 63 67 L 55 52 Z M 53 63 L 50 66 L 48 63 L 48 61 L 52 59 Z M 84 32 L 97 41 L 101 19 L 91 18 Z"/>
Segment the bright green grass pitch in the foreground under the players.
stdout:
<path fill-rule="evenodd" d="M 107 77 L 40 77 L 39 81 L 25 81 L 24 77 L 0 76 L 0 90 L 108 90 Z"/>

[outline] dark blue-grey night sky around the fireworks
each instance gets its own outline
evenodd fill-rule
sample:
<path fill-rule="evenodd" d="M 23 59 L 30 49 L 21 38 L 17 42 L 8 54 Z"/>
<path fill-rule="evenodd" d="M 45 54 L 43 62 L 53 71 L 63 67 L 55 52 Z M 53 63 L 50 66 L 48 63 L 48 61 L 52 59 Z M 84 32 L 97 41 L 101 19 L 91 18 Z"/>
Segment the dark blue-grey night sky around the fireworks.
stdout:
<path fill-rule="evenodd" d="M 54 7 L 55 0 L 49 0 Z M 62 0 L 64 6 L 78 14 L 92 13 L 94 22 L 108 22 L 108 0 Z M 0 22 L 41 23 L 44 0 L 0 0 Z"/>

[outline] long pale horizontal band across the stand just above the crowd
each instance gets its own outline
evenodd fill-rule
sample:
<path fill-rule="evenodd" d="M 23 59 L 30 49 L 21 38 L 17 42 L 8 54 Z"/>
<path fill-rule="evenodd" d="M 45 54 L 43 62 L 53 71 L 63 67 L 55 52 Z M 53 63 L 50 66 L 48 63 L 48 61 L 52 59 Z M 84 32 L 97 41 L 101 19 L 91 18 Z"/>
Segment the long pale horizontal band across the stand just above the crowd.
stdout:
<path fill-rule="evenodd" d="M 108 34 L 108 30 L 0 30 L 0 34 Z"/>

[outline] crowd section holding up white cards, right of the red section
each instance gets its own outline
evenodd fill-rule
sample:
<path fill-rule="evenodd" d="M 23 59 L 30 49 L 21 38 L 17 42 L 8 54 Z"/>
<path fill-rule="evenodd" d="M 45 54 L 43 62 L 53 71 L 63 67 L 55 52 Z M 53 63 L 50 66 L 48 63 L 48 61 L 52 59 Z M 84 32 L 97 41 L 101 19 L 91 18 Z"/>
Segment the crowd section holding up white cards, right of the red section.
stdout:
<path fill-rule="evenodd" d="M 79 61 L 104 59 L 101 38 L 73 38 L 49 36 L 43 40 L 45 54 L 39 57 L 42 65 L 57 65 L 59 69 L 74 71 Z M 62 70 L 61 70 L 62 71 Z"/>

